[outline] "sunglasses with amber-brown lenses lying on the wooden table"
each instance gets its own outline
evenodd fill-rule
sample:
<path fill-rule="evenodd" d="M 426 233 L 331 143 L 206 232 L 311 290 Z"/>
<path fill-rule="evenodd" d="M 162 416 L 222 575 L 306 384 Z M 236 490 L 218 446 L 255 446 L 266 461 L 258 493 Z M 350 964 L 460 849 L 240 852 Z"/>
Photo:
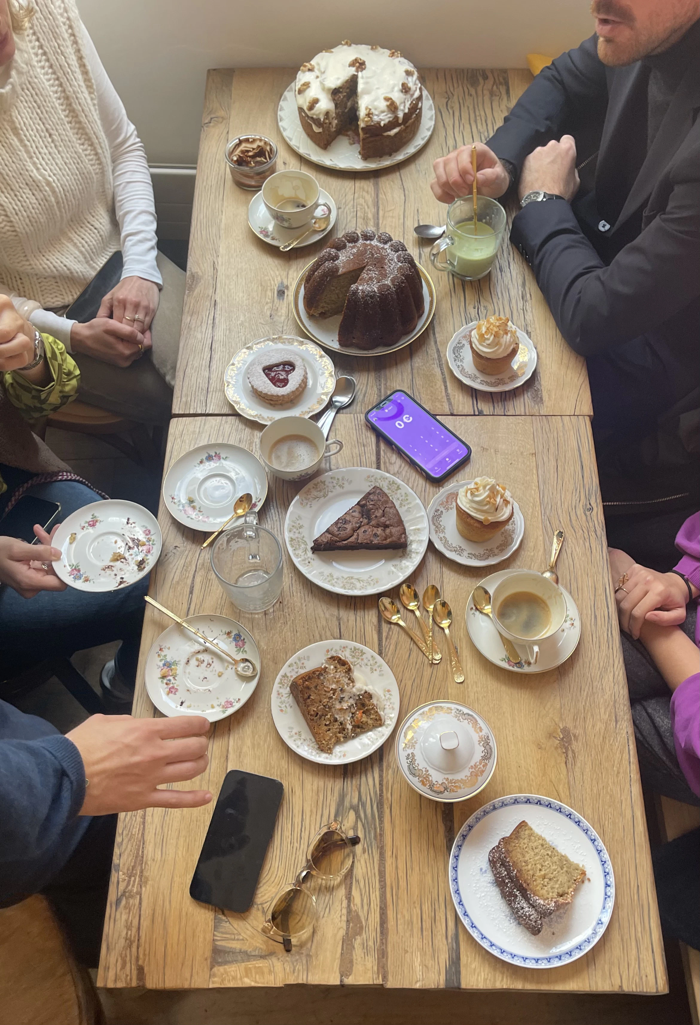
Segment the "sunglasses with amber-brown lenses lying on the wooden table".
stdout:
<path fill-rule="evenodd" d="M 314 932 L 317 917 L 316 898 L 304 884 L 312 875 L 326 883 L 342 878 L 355 859 L 359 836 L 348 836 L 339 822 L 322 826 L 308 845 L 306 864 L 292 884 L 283 887 L 273 897 L 265 913 L 262 933 L 282 943 L 285 950 L 292 942 L 300 943 Z"/>

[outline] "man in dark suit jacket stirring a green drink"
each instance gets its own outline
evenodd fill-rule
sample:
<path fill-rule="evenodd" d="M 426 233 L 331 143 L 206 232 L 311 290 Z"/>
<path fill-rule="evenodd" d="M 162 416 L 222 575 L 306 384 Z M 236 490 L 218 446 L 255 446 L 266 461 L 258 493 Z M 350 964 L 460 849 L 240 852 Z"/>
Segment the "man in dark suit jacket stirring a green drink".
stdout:
<path fill-rule="evenodd" d="M 593 0 L 591 9 L 595 35 L 540 72 L 478 144 L 477 187 L 496 198 L 518 186 L 510 240 L 587 358 L 601 438 L 649 433 L 686 397 L 697 405 L 700 9 L 697 0 Z M 469 195 L 470 145 L 435 172 L 441 202 Z"/>

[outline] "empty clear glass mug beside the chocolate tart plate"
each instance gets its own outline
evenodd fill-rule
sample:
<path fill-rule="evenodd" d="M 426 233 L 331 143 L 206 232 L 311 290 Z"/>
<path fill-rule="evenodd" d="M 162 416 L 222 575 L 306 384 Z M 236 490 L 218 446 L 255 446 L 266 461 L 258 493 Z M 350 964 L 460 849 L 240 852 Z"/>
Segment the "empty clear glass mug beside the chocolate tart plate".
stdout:
<path fill-rule="evenodd" d="M 282 592 L 282 546 L 254 512 L 211 546 L 211 568 L 223 593 L 242 612 L 264 612 Z"/>

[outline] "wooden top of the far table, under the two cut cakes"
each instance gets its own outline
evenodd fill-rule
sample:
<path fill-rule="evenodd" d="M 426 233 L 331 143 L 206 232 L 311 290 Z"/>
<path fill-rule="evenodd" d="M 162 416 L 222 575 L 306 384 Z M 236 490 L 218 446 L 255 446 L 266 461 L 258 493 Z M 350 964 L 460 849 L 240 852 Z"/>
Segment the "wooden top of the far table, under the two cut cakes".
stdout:
<path fill-rule="evenodd" d="M 491 275 L 471 284 L 433 269 L 429 243 L 413 234 L 417 223 L 445 221 L 446 207 L 429 190 L 434 160 L 471 138 L 488 138 L 527 87 L 530 73 L 440 69 L 421 74 L 436 106 L 427 145 L 395 167 L 348 173 L 303 161 L 282 137 L 277 108 L 293 69 L 209 72 L 173 415 L 234 414 L 222 383 L 234 354 L 256 338 L 302 334 L 291 294 L 324 243 L 281 253 L 250 230 L 252 193 L 233 183 L 223 152 L 228 137 L 246 131 L 277 141 L 278 170 L 303 166 L 331 193 L 338 206 L 331 236 L 355 228 L 388 231 L 406 243 L 435 283 L 436 316 L 411 345 L 393 356 L 331 354 L 338 373 L 356 377 L 359 408 L 364 411 L 402 387 L 436 414 L 591 415 L 585 363 L 562 338 L 530 269 L 507 241 Z M 538 353 L 530 380 L 500 395 L 463 384 L 446 358 L 455 331 L 491 314 L 509 315 Z"/>

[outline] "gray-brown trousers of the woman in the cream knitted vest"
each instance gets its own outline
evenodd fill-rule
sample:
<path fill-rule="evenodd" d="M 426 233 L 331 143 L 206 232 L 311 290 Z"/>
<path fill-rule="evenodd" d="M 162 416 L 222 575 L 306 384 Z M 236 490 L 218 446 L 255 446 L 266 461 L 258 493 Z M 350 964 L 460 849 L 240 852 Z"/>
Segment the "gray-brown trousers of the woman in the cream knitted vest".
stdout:
<path fill-rule="evenodd" d="M 179 350 L 184 272 L 159 252 L 163 290 L 151 325 L 153 348 L 129 367 L 115 367 L 91 356 L 76 355 L 80 367 L 78 398 L 138 423 L 166 424 Z"/>

